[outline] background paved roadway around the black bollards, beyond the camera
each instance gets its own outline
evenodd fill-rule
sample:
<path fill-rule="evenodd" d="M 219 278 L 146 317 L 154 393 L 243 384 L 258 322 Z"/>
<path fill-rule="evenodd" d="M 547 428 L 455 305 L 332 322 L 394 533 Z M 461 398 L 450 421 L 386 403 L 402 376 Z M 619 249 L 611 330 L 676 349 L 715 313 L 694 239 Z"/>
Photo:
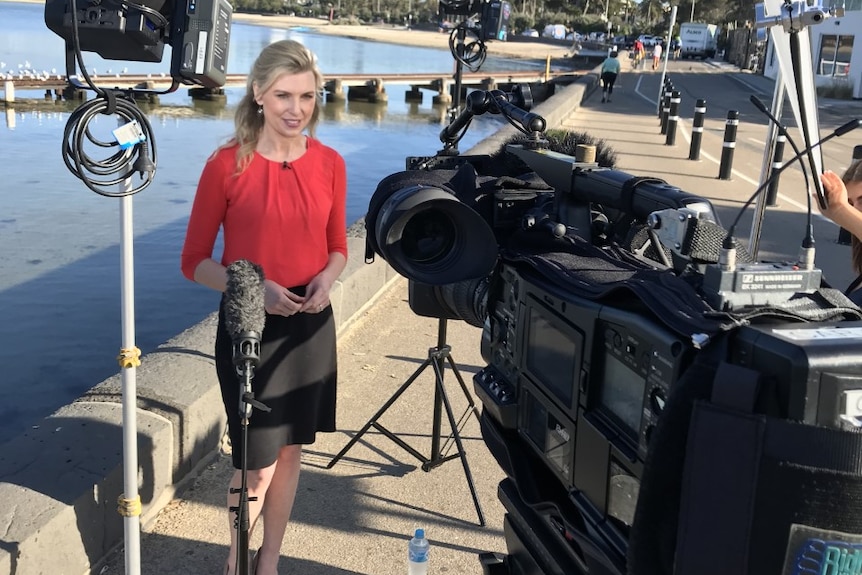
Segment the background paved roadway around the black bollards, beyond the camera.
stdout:
<path fill-rule="evenodd" d="M 750 102 L 755 94 L 771 108 L 774 82 L 768 78 L 741 73 L 738 68 L 716 62 L 670 61 L 667 77 L 680 91 L 680 123 L 674 146 L 667 146 L 660 134 L 656 99 L 661 83 L 660 71 L 632 71 L 628 61 L 614 90 L 613 102 L 602 104 L 597 91 L 567 122 L 569 129 L 584 129 L 602 138 L 617 153 L 617 168 L 637 176 L 660 178 L 688 192 L 709 199 L 727 227 L 737 216 L 737 238 L 750 245 L 753 210 L 743 210 L 761 180 L 768 120 Z M 688 160 L 695 102 L 707 101 L 700 161 Z M 818 102 L 821 134 L 853 117 L 862 117 L 862 102 Z M 730 180 L 720 180 L 719 163 L 728 110 L 739 111 L 737 145 Z M 782 121 L 801 147 L 802 136 L 795 127 L 789 103 Z M 838 173 L 849 165 L 854 145 L 862 144 L 862 130 L 834 138 L 823 146 L 823 165 Z M 784 158 L 792 155 L 785 149 Z M 798 257 L 804 235 L 807 206 L 806 184 L 801 170 L 790 166 L 779 181 L 777 205 L 769 207 L 763 219 L 758 259 L 789 261 Z M 740 212 L 742 215 L 740 216 Z M 843 288 L 853 278 L 849 248 L 836 244 L 838 227 L 812 208 L 817 241 L 816 261 L 827 281 Z"/>

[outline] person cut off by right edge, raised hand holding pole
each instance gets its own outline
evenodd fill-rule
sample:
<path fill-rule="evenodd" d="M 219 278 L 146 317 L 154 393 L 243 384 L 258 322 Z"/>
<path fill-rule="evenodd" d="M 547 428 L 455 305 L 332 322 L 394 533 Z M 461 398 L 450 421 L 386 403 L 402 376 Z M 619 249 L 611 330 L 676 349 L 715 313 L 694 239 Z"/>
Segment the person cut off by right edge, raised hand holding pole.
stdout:
<path fill-rule="evenodd" d="M 859 274 L 845 291 L 853 303 L 862 306 L 862 160 L 853 160 L 839 178 L 827 170 L 820 176 L 828 207 L 823 215 L 850 232 L 850 260 Z M 818 206 L 820 204 L 818 203 Z"/>

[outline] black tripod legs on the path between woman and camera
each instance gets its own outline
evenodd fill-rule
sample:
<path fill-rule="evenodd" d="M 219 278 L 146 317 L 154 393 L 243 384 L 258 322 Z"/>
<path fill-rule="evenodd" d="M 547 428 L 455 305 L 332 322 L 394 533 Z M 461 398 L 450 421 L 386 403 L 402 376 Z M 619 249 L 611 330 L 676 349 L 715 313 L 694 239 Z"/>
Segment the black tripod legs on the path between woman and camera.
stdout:
<path fill-rule="evenodd" d="M 366 431 L 374 427 L 376 430 L 381 432 L 383 435 L 403 447 L 408 453 L 413 455 L 416 459 L 422 462 L 422 471 L 431 471 L 435 467 L 446 463 L 447 461 L 455 458 L 461 459 L 461 464 L 464 466 L 464 475 L 467 478 L 467 485 L 470 487 L 470 494 L 473 496 L 473 504 L 476 506 L 476 514 L 479 516 L 479 525 L 485 526 L 485 516 L 482 514 L 482 507 L 479 505 L 479 498 L 476 496 L 476 486 L 473 484 L 473 475 L 470 473 L 470 466 L 467 464 L 467 456 L 464 452 L 464 446 L 461 443 L 461 427 L 465 423 L 467 417 L 472 412 L 476 419 L 479 419 L 479 410 L 476 409 L 476 403 L 473 401 L 472 396 L 470 395 L 470 391 L 467 389 L 466 384 L 464 383 L 464 378 L 461 377 L 461 372 L 458 371 L 458 367 L 455 365 L 455 362 L 452 360 L 452 356 L 450 352 L 452 351 L 452 347 L 446 344 L 446 323 L 447 320 L 440 318 L 438 327 L 437 327 L 437 346 L 432 347 L 428 350 L 428 358 L 422 362 L 422 365 L 413 372 L 407 381 L 401 384 L 401 387 L 390 397 L 386 403 L 383 404 L 377 413 L 368 420 L 368 423 L 359 430 L 359 433 L 353 436 L 353 439 L 344 446 L 344 449 L 338 452 L 338 454 L 332 458 L 332 461 L 329 462 L 329 465 L 326 466 L 327 469 L 331 469 L 333 465 L 335 465 L 339 459 L 341 459 L 347 451 L 353 447 L 353 445 L 359 441 L 359 439 L 365 434 Z M 458 379 L 458 383 L 461 385 L 461 390 L 464 392 L 464 396 L 467 398 L 467 409 L 458 419 L 455 420 L 455 415 L 452 411 L 452 405 L 449 403 L 449 396 L 446 395 L 446 389 L 443 387 L 443 370 L 445 369 L 446 364 L 445 361 L 449 362 L 449 367 L 452 369 L 452 372 L 455 374 L 455 377 Z M 407 391 L 407 388 L 416 381 L 416 379 L 425 371 L 425 368 L 431 366 L 434 368 L 434 379 L 436 386 L 434 388 L 434 414 L 433 414 L 433 422 L 432 422 L 432 430 L 431 430 L 431 455 L 425 457 L 422 453 L 419 453 L 413 446 L 409 445 L 403 439 L 386 429 L 383 425 L 381 425 L 377 420 L 389 409 L 393 403 L 395 403 L 401 394 Z M 442 410 L 445 407 L 446 416 L 449 419 L 449 425 L 452 428 L 452 435 L 446 439 L 446 445 L 441 448 L 440 445 L 440 432 L 441 432 L 441 422 L 442 422 Z M 458 447 L 458 451 L 456 453 L 450 455 L 443 455 L 443 451 L 446 450 L 449 440 L 454 439 L 455 444 Z"/>

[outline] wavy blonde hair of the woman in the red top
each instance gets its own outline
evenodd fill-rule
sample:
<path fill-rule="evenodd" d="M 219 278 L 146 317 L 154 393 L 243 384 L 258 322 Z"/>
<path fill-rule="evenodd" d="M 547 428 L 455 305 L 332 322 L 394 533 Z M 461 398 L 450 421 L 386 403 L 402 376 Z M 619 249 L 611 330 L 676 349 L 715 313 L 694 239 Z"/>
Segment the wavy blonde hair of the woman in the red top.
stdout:
<path fill-rule="evenodd" d="M 317 98 L 308 133 L 314 137 L 320 119 L 320 105 L 323 102 L 323 75 L 317 67 L 314 53 L 295 40 L 279 40 L 264 48 L 251 67 L 246 82 L 245 95 L 237 106 L 234 115 L 234 136 L 228 145 L 239 144 L 236 153 L 237 173 L 245 170 L 251 163 L 252 154 L 257 147 L 263 129 L 263 114 L 258 113 L 260 106 L 254 99 L 254 86 L 263 94 L 281 76 L 312 72 Z"/>

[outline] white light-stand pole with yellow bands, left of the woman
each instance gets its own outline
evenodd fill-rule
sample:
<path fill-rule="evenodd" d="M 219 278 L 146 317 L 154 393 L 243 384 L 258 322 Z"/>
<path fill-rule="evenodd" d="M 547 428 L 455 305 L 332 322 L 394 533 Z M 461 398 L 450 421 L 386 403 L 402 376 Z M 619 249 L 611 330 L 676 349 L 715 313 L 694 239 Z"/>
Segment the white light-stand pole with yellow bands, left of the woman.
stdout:
<path fill-rule="evenodd" d="M 122 118 L 120 118 L 122 124 Z M 131 189 L 129 176 L 120 192 Z M 141 573 L 141 499 L 138 495 L 138 405 L 137 366 L 140 350 L 135 347 L 135 266 L 132 196 L 120 197 L 120 308 L 122 349 L 119 362 L 123 384 L 123 494 L 118 511 L 123 516 L 126 575 Z"/>

